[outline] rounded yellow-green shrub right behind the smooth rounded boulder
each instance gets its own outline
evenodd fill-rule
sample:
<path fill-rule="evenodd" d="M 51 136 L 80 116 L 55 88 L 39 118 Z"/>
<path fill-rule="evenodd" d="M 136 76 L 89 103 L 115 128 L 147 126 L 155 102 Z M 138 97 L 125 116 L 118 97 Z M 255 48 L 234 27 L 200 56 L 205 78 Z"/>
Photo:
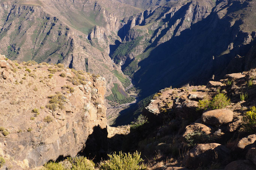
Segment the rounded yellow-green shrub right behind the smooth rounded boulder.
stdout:
<path fill-rule="evenodd" d="M 230 99 L 223 93 L 218 93 L 210 103 L 211 109 L 223 109 L 230 104 Z"/>

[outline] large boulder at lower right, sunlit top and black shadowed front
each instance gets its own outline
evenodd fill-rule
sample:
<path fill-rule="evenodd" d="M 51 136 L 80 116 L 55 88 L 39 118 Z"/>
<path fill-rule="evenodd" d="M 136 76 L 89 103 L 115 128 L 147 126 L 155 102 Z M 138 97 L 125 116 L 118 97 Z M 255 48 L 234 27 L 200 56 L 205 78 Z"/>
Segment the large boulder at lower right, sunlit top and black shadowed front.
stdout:
<path fill-rule="evenodd" d="M 213 161 L 220 163 L 227 160 L 229 153 L 229 149 L 218 143 L 198 144 L 188 152 L 184 163 L 191 168 L 207 166 Z"/>

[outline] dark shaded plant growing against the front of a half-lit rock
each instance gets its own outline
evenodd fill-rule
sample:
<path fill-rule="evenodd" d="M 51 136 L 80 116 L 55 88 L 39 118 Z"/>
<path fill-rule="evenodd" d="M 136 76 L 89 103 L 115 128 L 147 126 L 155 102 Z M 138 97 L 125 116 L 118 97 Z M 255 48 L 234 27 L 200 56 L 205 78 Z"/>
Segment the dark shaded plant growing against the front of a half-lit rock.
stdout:
<path fill-rule="evenodd" d="M 185 137 L 185 142 L 188 147 L 196 146 L 199 143 L 209 142 L 211 137 L 202 131 L 195 131 L 193 133 L 188 133 Z"/>

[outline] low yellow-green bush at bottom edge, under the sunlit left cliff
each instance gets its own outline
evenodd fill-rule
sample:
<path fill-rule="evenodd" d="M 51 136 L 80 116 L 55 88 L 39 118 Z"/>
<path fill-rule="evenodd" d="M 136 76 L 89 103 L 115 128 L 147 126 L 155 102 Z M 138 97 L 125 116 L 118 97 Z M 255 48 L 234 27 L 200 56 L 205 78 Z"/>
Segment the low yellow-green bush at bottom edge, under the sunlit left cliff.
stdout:
<path fill-rule="evenodd" d="M 68 157 L 59 163 L 48 162 L 44 165 L 44 170 L 94 170 L 95 164 L 86 157 Z"/>

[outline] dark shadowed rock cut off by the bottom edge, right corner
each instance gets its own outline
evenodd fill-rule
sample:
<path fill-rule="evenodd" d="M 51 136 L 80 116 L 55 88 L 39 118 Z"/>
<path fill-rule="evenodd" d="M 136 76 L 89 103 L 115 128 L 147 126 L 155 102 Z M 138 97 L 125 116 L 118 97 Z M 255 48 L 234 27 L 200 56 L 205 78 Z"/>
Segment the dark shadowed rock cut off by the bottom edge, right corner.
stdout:
<path fill-rule="evenodd" d="M 254 165 L 245 164 L 243 160 L 229 163 L 224 170 L 256 170 Z"/>

